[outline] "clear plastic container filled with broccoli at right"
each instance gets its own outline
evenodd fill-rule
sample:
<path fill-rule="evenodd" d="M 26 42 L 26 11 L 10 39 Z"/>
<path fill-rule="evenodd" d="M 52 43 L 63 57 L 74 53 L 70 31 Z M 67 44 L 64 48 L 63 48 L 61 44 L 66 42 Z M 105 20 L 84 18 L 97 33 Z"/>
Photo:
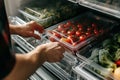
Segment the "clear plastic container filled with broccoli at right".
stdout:
<path fill-rule="evenodd" d="M 120 67 L 120 33 L 112 33 L 105 40 L 90 44 L 76 53 L 77 57 L 87 63 L 93 62 L 94 67 L 104 68 L 111 77 L 115 76 L 115 71 Z M 90 65 L 93 65 L 90 63 Z M 106 72 L 100 68 L 100 72 Z M 101 74 L 101 73 L 100 73 Z M 118 73 L 119 74 L 119 73 Z M 119 79 L 115 79 L 119 80 Z"/>

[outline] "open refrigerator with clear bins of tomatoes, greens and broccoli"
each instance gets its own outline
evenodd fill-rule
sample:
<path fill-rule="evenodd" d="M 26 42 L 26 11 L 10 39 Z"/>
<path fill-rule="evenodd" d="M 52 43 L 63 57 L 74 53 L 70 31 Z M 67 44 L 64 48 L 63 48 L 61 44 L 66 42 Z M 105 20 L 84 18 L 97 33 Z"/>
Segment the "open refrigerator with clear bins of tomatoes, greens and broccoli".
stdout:
<path fill-rule="evenodd" d="M 60 62 L 45 62 L 28 80 L 120 80 L 119 0 L 5 0 L 11 24 L 34 20 L 45 33 L 41 40 L 11 35 L 14 52 L 60 42 Z"/>

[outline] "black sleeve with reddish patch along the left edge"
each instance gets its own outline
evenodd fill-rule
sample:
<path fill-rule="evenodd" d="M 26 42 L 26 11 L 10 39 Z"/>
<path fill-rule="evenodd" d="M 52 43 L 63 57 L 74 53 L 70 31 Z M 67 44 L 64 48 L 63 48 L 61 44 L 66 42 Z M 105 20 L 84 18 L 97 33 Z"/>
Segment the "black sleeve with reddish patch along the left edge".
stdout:
<path fill-rule="evenodd" d="M 0 80 L 7 76 L 15 65 L 4 0 L 0 0 Z"/>

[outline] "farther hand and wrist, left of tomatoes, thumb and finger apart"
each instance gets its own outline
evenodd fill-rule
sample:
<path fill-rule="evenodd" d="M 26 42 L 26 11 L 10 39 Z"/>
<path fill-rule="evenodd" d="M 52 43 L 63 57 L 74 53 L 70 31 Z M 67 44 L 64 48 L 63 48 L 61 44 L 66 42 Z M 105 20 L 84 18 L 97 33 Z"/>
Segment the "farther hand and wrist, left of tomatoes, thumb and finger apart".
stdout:
<path fill-rule="evenodd" d="M 10 30 L 13 34 L 18 34 L 23 37 L 34 37 L 36 39 L 40 39 L 40 36 L 38 34 L 35 34 L 35 31 L 38 31 L 39 33 L 44 32 L 44 28 L 35 21 L 30 21 L 26 24 L 17 26 L 10 25 Z"/>

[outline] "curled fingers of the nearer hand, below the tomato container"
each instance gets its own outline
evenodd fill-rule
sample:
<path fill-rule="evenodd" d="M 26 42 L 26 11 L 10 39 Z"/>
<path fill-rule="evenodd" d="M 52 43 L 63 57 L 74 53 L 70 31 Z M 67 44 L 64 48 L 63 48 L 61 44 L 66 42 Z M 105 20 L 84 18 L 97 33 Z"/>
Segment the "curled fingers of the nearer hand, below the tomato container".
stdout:
<path fill-rule="evenodd" d="M 58 42 L 50 42 L 44 44 L 43 52 L 46 53 L 46 60 L 48 62 L 59 62 L 63 57 L 65 49 Z"/>

